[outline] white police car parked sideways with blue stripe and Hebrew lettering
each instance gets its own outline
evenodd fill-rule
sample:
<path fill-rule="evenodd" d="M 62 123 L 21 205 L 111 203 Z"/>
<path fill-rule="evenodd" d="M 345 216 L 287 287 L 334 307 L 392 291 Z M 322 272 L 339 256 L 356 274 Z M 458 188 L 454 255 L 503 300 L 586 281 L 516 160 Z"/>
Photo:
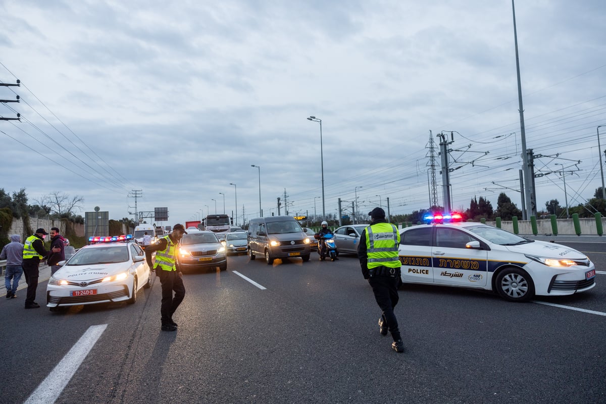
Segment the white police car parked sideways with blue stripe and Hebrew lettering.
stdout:
<path fill-rule="evenodd" d="M 535 295 L 565 296 L 595 286 L 593 263 L 570 247 L 485 224 L 447 222 L 442 215 L 425 220 L 430 223 L 400 232 L 403 283 L 491 290 L 511 302 Z"/>

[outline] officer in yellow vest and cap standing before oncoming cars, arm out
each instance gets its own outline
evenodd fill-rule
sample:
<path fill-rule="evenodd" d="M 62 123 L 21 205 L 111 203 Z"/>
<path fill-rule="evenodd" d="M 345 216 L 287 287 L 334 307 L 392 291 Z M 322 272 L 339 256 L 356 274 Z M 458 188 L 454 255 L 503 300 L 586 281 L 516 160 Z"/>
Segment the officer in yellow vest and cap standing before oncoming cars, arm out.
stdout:
<path fill-rule="evenodd" d="M 162 331 L 176 331 L 177 323 L 173 321 L 173 314 L 185 297 L 185 286 L 183 285 L 183 274 L 177 271 L 175 262 L 177 260 L 177 243 L 187 234 L 181 224 L 173 226 L 173 232 L 161 237 L 155 243 L 145 248 L 145 259 L 150 268 L 154 268 L 156 276 L 160 278 L 162 285 L 162 303 L 160 307 L 160 320 Z M 155 267 L 151 263 L 151 254 L 156 253 Z M 173 291 L 175 296 L 173 296 Z"/>

